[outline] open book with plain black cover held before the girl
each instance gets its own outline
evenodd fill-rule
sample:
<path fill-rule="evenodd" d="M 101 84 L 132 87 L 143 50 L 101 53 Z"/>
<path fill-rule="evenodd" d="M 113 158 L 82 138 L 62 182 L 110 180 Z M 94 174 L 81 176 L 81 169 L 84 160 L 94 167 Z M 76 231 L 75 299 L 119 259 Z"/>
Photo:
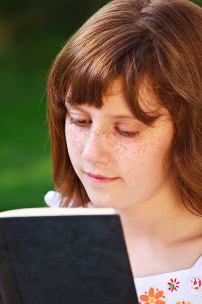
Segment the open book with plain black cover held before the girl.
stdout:
<path fill-rule="evenodd" d="M 110 208 L 0 213 L 0 304 L 138 304 Z"/>

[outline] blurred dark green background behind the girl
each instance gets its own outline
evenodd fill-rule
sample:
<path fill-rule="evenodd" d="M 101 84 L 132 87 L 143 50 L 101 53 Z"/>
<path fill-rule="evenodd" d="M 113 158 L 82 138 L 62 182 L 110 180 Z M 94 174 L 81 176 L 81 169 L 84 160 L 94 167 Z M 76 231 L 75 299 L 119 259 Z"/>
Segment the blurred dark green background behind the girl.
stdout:
<path fill-rule="evenodd" d="M 70 34 L 107 2 L 0 1 L 0 211 L 45 206 L 53 189 L 48 70 Z"/>

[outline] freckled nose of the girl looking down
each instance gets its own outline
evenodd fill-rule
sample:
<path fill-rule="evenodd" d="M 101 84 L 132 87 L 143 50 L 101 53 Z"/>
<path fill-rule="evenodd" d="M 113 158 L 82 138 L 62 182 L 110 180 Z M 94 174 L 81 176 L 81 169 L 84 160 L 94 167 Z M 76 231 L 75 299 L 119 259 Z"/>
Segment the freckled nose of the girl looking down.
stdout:
<path fill-rule="evenodd" d="M 91 131 L 86 138 L 82 157 L 90 164 L 109 162 L 109 142 L 107 136 L 98 131 Z"/>

